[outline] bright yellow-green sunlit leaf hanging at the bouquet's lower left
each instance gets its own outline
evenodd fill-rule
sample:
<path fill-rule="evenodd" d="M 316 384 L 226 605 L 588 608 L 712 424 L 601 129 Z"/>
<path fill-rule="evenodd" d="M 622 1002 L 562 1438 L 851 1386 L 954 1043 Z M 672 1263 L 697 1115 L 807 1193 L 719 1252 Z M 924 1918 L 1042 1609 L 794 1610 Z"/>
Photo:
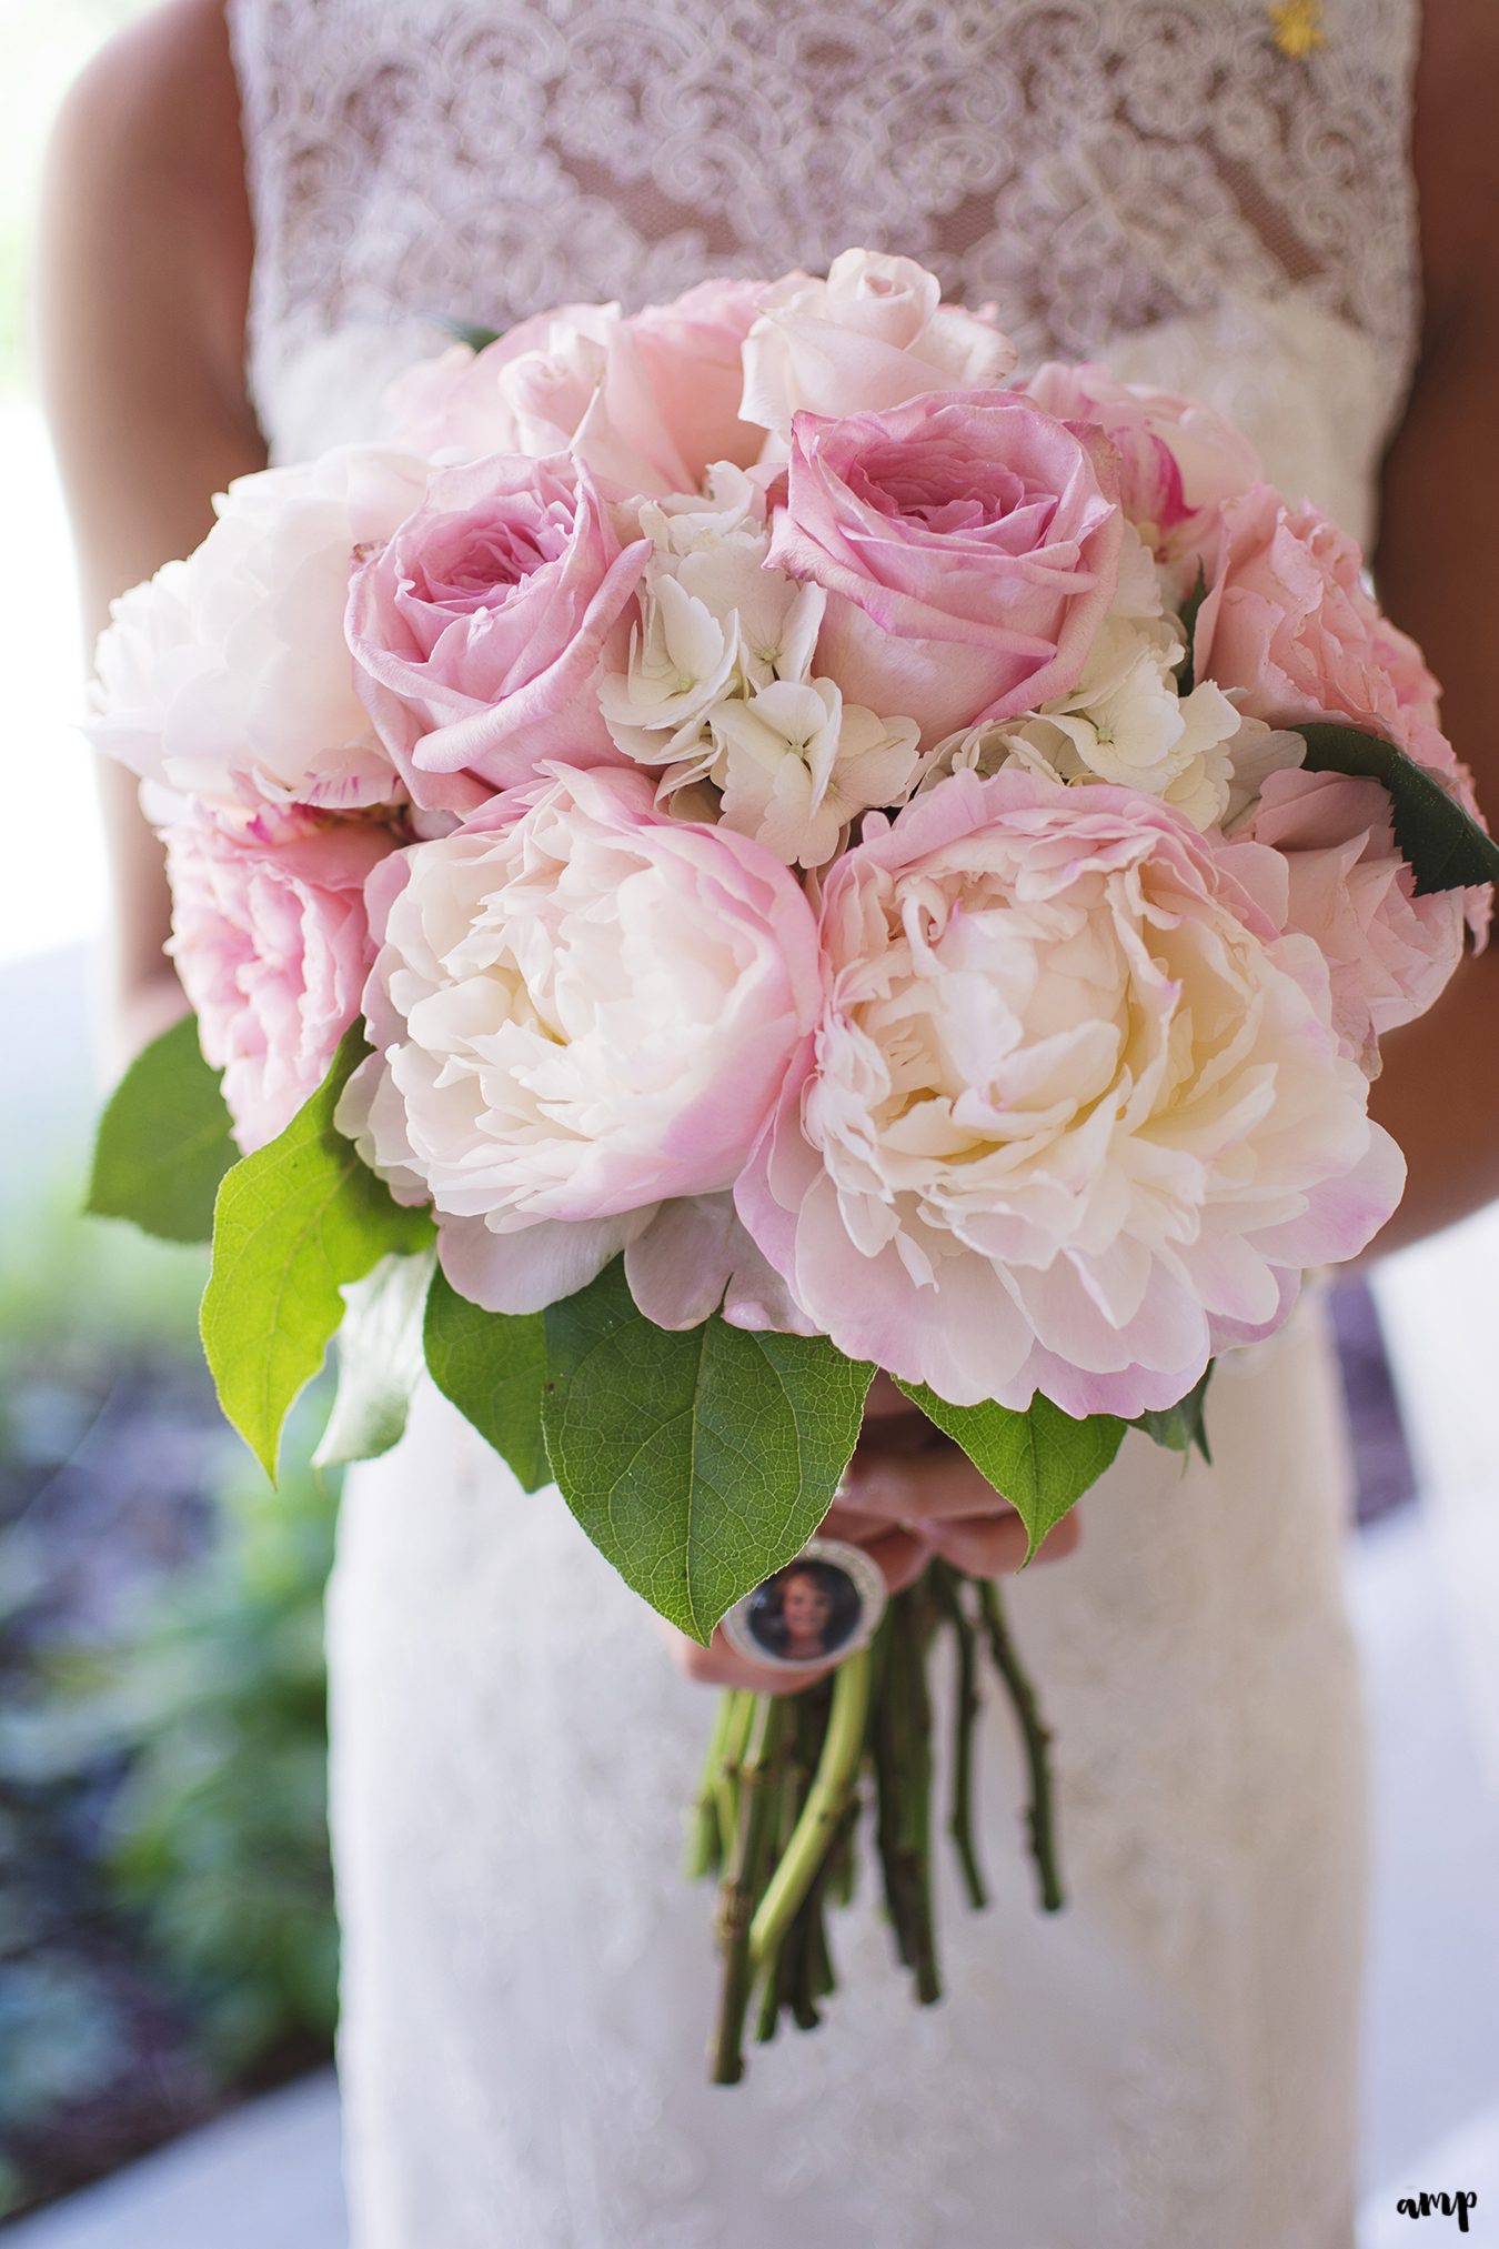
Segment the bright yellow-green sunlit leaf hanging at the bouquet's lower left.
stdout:
<path fill-rule="evenodd" d="M 234 1165 L 214 1208 L 202 1347 L 218 1403 L 272 1482 L 281 1424 L 344 1318 L 339 1289 L 431 1241 L 427 1212 L 402 1210 L 333 1124 L 366 1053 L 348 1030 L 317 1093 L 279 1140 Z"/>

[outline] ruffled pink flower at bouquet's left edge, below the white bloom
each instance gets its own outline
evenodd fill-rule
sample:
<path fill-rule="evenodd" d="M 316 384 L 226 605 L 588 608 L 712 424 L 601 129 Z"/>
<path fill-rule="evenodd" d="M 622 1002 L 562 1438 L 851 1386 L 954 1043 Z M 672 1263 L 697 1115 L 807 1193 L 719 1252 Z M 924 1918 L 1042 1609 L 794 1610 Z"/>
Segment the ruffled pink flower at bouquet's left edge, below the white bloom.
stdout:
<path fill-rule="evenodd" d="M 263 812 L 164 834 L 171 945 L 234 1138 L 274 1140 L 328 1075 L 373 960 L 364 882 L 396 850 L 375 819 Z"/>

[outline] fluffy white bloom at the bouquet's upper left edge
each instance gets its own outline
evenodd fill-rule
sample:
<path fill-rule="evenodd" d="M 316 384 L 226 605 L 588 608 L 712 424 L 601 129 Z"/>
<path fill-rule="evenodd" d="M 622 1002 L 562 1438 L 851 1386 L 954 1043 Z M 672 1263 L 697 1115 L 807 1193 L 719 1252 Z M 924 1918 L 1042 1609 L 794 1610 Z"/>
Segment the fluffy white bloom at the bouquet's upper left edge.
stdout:
<path fill-rule="evenodd" d="M 355 690 L 344 609 L 355 549 L 387 540 L 425 486 L 425 461 L 375 445 L 236 477 L 207 540 L 115 603 L 94 747 L 229 816 L 402 798 Z"/>

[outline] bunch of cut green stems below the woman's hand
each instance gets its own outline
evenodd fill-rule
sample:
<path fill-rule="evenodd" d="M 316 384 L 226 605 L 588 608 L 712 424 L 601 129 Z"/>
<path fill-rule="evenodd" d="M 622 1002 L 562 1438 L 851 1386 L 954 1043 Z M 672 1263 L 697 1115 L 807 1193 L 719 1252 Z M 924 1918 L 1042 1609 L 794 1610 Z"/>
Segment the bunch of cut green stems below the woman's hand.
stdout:
<path fill-rule="evenodd" d="M 836 1986 L 827 1912 L 854 1889 L 865 1792 L 899 1963 L 919 2006 L 942 1997 L 933 1912 L 933 1702 L 937 1642 L 953 1662 L 946 1831 L 969 1905 L 989 1903 L 978 1842 L 973 1750 L 980 1655 L 1002 1682 L 1027 1768 L 1025 1828 L 1045 1912 L 1063 1903 L 1050 1736 L 1009 1635 L 998 1586 L 944 1561 L 894 1595 L 867 1649 L 800 1693 L 730 1691 L 715 1718 L 688 1833 L 688 1871 L 717 1873 L 719 2011 L 715 2085 L 744 2076 L 746 2026 L 760 2042 L 782 2015 L 823 2020 Z"/>

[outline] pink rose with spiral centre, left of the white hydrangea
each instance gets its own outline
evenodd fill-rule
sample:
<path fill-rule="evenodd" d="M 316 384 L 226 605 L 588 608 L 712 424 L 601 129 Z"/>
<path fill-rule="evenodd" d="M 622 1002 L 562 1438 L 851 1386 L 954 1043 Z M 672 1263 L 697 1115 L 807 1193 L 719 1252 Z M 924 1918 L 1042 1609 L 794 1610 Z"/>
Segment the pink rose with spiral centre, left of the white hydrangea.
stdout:
<path fill-rule="evenodd" d="M 564 454 L 438 470 L 348 596 L 348 643 L 380 738 L 418 805 L 470 812 L 546 758 L 616 760 L 593 677 L 627 648 L 649 540 L 620 547 Z"/>

